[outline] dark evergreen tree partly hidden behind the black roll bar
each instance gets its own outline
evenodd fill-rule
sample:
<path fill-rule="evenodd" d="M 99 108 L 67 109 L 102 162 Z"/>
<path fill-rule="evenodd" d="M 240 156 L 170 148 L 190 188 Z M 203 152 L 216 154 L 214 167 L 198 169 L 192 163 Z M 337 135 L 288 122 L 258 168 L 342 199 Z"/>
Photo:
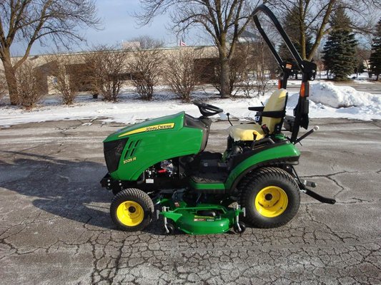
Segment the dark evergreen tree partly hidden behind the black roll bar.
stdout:
<path fill-rule="evenodd" d="M 299 22 L 299 9 L 297 7 L 294 7 L 291 11 L 287 13 L 287 15 L 284 18 L 283 22 L 283 28 L 284 31 L 286 31 L 287 36 L 290 37 L 290 40 L 294 44 L 295 48 L 297 49 L 297 52 L 300 53 L 302 48 L 300 47 L 300 22 Z M 312 50 L 312 36 L 310 34 L 307 34 L 306 38 L 306 56 L 310 56 L 310 52 Z M 292 63 L 292 66 L 294 66 L 295 70 L 295 79 L 297 79 L 297 73 L 299 71 L 299 68 L 297 68 L 297 63 L 288 50 L 287 46 L 285 43 L 282 43 L 279 46 L 279 55 L 280 57 L 289 63 Z"/>

